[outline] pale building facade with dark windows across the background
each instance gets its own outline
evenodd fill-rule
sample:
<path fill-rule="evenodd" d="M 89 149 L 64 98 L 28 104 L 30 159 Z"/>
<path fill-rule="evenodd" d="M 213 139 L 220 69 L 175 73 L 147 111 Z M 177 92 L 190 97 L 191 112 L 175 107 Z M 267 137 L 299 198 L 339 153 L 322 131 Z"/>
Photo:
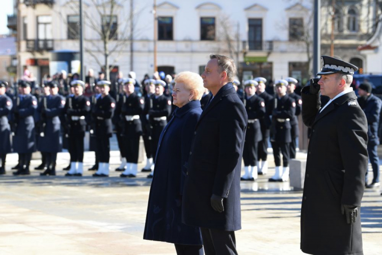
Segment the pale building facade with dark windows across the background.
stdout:
<path fill-rule="evenodd" d="M 88 49 L 84 67 L 85 71 L 89 68 L 98 71 L 104 65 L 103 45 L 100 35 L 91 27 L 93 25 L 101 28 L 101 15 L 91 0 L 83 1 L 85 48 Z M 52 50 L 79 50 L 78 0 L 20 2 L 17 17 L 20 43 L 18 73 L 22 73 L 23 67 L 28 67 L 41 79 L 44 74 L 60 71 L 52 68 Z M 358 5 L 370 1 L 345 2 Z M 118 3 L 120 4 L 114 9 L 113 18 L 106 17 L 107 22 L 112 20 L 111 28 L 118 34 L 118 40 L 111 42 L 109 49 L 119 45 L 118 50 L 110 55 L 109 63 L 115 66 L 114 72 L 119 70 L 126 75 L 133 70 L 137 73 L 137 79 L 141 80 L 145 73 L 151 75 L 154 71 L 153 0 L 119 0 Z M 306 79 L 309 77 L 308 54 L 307 45 L 302 38 L 312 31 L 311 3 L 311 0 L 157 0 L 158 70 L 166 73 L 184 70 L 200 73 L 209 54 L 219 53 L 235 59 L 240 78 L 247 79 L 253 75 L 263 76 L 268 80 L 288 76 Z M 126 39 L 130 38 L 131 5 L 134 13 L 132 47 L 130 40 Z M 362 8 L 366 8 L 366 5 L 361 3 L 359 9 L 356 8 L 357 17 L 367 14 L 361 12 Z M 110 6 L 106 6 L 101 14 L 110 15 Z M 322 26 L 327 27 L 328 12 L 325 14 L 323 11 L 323 15 L 326 16 L 323 16 Z M 344 14 L 343 17 L 346 19 L 348 15 Z M 341 25 L 343 23 L 340 24 L 337 34 L 343 32 Z M 353 34 L 359 32 L 358 28 L 371 33 L 370 26 L 365 29 L 359 23 L 355 26 L 357 29 Z M 327 32 L 323 29 L 324 34 Z M 366 38 L 362 40 L 366 43 Z M 354 50 L 362 44 L 362 40 L 358 40 Z M 346 42 L 346 38 L 343 41 Z M 324 36 L 323 43 L 328 43 Z M 364 61 L 365 57 L 361 56 L 360 59 Z M 68 70 L 72 71 L 77 70 Z"/>

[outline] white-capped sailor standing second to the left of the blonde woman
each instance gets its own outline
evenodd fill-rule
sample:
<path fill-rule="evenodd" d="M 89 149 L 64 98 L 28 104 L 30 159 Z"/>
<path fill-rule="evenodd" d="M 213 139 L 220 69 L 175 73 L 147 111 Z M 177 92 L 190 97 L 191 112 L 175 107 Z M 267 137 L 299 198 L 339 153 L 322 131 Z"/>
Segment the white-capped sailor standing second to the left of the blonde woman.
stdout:
<path fill-rule="evenodd" d="M 142 138 L 146 152 L 146 166 L 142 168 L 142 172 L 151 172 L 154 169 L 152 148 L 151 148 L 151 124 L 149 120 L 149 110 L 152 108 L 152 95 L 155 93 L 155 80 L 146 79 L 144 82 L 146 95 L 144 96 L 144 108 L 141 115 Z"/>

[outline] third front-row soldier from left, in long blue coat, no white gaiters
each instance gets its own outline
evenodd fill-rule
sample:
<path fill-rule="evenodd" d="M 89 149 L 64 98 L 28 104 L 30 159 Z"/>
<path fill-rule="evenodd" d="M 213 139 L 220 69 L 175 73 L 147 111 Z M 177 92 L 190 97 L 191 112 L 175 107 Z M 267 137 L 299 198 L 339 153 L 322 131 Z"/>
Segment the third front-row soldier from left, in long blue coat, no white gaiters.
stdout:
<path fill-rule="evenodd" d="M 40 123 L 38 150 L 46 157 L 45 171 L 40 175 L 56 175 L 57 152 L 62 150 L 60 115 L 64 110 L 65 99 L 58 94 L 58 82 L 51 81 L 46 86 L 50 91 L 45 94 L 37 107 Z"/>

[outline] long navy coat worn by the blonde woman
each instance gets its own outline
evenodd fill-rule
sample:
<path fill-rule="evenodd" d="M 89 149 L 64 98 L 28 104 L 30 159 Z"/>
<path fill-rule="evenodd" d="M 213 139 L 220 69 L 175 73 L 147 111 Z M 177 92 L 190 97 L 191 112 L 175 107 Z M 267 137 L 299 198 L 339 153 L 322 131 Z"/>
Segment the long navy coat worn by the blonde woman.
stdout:
<path fill-rule="evenodd" d="M 143 236 L 146 240 L 202 244 L 199 227 L 181 222 L 184 164 L 201 113 L 200 101 L 190 101 L 175 110 L 160 135 Z"/>

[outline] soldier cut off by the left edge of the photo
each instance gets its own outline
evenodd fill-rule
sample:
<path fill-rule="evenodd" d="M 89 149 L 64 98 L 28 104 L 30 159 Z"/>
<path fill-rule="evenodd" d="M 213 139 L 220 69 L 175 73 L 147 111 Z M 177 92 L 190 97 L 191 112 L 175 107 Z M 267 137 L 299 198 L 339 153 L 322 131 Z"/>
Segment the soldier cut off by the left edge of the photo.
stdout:
<path fill-rule="evenodd" d="M 6 94 L 7 86 L 6 82 L 0 81 L 0 159 L 2 161 L 0 174 L 5 174 L 6 157 L 11 152 L 11 126 L 8 114 L 12 110 L 12 99 Z"/>

